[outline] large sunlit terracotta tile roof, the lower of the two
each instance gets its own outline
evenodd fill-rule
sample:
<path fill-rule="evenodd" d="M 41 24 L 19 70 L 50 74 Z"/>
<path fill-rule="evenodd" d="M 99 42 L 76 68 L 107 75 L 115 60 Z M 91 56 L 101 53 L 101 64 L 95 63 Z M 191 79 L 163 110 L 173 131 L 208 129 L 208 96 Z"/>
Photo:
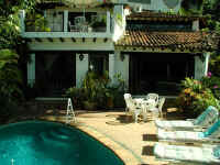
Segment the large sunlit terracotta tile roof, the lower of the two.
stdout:
<path fill-rule="evenodd" d="M 212 40 L 202 40 L 208 36 L 200 32 L 145 32 L 125 31 L 122 38 L 114 43 L 116 46 L 144 47 L 144 48 L 170 48 L 172 51 L 211 51 L 216 50 Z"/>

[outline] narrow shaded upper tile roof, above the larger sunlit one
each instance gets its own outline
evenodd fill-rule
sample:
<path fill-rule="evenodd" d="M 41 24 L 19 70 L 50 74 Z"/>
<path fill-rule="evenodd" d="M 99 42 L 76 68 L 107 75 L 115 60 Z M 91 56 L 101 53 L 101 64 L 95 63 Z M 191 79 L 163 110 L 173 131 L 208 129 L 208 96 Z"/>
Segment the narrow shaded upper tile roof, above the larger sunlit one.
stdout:
<path fill-rule="evenodd" d="M 127 20 L 151 20 L 151 21 L 193 21 L 204 19 L 204 16 L 195 15 L 195 16 L 187 16 L 180 14 L 173 14 L 173 13 L 164 13 L 164 12 L 155 12 L 155 11 L 142 11 L 136 13 L 131 13 L 127 16 Z"/>

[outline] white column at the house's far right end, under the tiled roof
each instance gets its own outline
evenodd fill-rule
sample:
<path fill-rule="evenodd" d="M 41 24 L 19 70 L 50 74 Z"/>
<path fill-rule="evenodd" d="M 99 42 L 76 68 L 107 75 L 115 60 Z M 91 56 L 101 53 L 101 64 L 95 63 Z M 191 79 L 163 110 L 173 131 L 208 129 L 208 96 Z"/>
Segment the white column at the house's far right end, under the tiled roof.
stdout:
<path fill-rule="evenodd" d="M 207 76 L 210 53 L 204 53 L 201 57 L 195 56 L 195 79 Z"/>

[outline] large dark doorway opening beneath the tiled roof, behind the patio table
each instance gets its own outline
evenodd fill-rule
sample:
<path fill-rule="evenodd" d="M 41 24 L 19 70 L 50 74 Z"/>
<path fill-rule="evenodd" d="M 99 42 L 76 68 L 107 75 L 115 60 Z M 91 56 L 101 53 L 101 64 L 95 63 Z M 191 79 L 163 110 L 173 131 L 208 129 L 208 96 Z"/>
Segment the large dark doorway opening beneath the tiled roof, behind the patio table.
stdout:
<path fill-rule="evenodd" d="M 184 53 L 131 53 L 130 91 L 177 95 L 180 80 L 194 76 L 194 56 Z"/>

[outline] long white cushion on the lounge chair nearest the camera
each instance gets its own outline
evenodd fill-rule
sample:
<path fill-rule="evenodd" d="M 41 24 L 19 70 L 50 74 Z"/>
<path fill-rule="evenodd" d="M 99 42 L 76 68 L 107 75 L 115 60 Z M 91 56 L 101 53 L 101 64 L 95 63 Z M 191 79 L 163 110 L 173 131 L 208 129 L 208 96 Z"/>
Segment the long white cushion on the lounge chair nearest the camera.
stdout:
<path fill-rule="evenodd" d="M 157 158 L 167 161 L 186 161 L 197 163 L 220 163 L 220 160 L 213 156 L 212 147 L 169 145 L 156 143 L 154 145 L 154 155 Z"/>

